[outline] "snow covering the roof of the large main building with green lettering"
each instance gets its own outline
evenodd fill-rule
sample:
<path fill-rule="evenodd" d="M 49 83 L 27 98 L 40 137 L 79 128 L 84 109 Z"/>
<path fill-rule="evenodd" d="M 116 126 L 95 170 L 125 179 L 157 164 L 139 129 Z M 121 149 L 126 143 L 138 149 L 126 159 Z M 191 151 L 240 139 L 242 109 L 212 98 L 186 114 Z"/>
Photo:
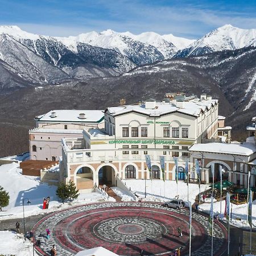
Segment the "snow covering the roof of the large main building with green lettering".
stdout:
<path fill-rule="evenodd" d="M 183 101 L 183 108 L 178 108 L 171 102 L 156 102 L 156 107 L 154 109 L 146 109 L 145 105 L 126 105 L 110 107 L 108 111 L 112 115 L 121 115 L 129 112 L 138 112 L 150 116 L 159 116 L 163 114 L 168 114 L 172 112 L 179 112 L 184 114 L 193 115 L 195 117 L 199 116 L 200 113 L 205 110 L 212 108 L 216 105 L 218 100 L 190 100 Z"/>

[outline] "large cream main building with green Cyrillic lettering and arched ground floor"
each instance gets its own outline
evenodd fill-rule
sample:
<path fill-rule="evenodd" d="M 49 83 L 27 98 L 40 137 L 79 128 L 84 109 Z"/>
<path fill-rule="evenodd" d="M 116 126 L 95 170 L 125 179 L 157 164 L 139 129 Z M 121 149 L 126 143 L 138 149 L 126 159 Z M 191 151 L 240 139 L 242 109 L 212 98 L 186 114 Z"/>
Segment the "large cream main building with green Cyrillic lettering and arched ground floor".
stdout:
<path fill-rule="evenodd" d="M 150 99 L 106 109 L 104 122 L 104 129 L 84 129 L 82 139 L 62 139 L 60 180 L 72 180 L 78 189 L 91 191 L 98 184 L 115 184 L 116 177 L 149 179 L 145 155 L 150 155 L 153 179 L 163 179 L 159 156 L 164 155 L 165 178 L 176 179 L 176 156 L 178 179 L 184 180 L 185 159 L 190 160 L 189 172 L 193 166 L 188 148 L 217 138 L 218 100 Z"/>

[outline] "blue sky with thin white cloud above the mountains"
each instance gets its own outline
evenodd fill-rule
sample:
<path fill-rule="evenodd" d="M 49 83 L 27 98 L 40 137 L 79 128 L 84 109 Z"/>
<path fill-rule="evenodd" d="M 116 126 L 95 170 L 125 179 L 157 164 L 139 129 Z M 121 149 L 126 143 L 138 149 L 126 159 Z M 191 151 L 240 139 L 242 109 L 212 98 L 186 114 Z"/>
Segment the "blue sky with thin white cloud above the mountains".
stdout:
<path fill-rule="evenodd" d="M 0 24 L 52 36 L 154 31 L 200 38 L 232 24 L 256 28 L 256 0 L 0 0 Z"/>

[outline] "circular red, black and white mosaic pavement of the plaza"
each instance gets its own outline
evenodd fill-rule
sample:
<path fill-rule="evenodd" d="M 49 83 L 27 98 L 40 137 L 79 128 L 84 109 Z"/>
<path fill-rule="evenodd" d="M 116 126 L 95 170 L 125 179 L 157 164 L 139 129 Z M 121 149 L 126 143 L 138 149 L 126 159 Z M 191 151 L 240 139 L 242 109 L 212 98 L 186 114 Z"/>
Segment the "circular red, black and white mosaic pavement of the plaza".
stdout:
<path fill-rule="evenodd" d="M 183 236 L 179 238 L 180 226 Z M 46 229 L 51 237 L 46 239 Z M 48 215 L 33 228 L 41 246 L 36 249 L 48 255 L 53 244 L 57 255 L 75 255 L 77 251 L 103 246 L 118 255 L 171 255 L 181 247 L 188 252 L 188 209 L 164 208 L 155 203 L 101 203 L 82 205 Z M 214 255 L 226 246 L 226 230 L 214 225 Z M 211 237 L 208 218 L 192 215 L 192 255 L 209 255 Z"/>

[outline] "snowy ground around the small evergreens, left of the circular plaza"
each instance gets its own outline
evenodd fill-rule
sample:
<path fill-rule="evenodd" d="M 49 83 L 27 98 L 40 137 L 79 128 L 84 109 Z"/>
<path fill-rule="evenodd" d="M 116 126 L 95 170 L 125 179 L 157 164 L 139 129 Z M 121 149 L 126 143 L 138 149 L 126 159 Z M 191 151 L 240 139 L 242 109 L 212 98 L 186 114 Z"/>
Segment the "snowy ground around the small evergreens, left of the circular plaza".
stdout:
<path fill-rule="evenodd" d="M 53 167 L 57 168 L 57 166 Z M 55 170 L 56 171 L 56 170 Z M 77 204 L 109 201 L 108 195 L 102 193 L 81 193 L 71 203 L 62 204 L 55 195 L 57 187 L 42 183 L 39 177 L 22 175 L 19 164 L 11 163 L 0 166 L 0 185 L 9 192 L 10 202 L 0 212 L 0 220 L 23 217 L 22 199 L 24 199 L 24 214 L 31 216 L 72 207 Z M 50 197 L 49 209 L 43 210 L 44 197 Z M 27 204 L 28 199 L 30 204 Z"/>

